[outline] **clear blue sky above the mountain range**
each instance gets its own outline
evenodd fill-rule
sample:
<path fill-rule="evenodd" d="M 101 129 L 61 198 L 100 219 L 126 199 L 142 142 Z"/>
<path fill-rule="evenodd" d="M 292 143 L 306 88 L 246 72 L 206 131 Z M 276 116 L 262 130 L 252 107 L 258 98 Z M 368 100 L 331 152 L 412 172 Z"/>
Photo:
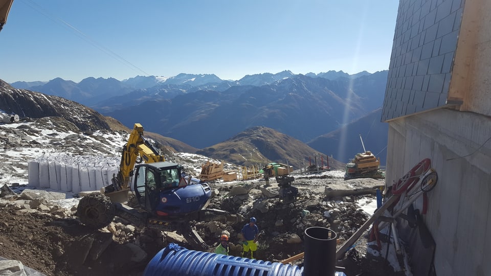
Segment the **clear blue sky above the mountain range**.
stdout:
<path fill-rule="evenodd" d="M 396 0 L 14 0 L 0 79 L 387 70 Z"/>

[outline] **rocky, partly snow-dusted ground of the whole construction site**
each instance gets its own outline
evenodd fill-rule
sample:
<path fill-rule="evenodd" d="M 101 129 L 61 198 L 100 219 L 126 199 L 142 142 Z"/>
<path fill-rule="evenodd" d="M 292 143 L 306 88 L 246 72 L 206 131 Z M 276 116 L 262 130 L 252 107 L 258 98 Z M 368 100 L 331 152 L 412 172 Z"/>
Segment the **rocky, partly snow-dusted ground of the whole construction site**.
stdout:
<path fill-rule="evenodd" d="M 110 131 L 81 133 L 73 125 L 54 119 L 0 125 L 0 147 L 4 149 L 0 152 L 3 157 L 0 187 L 10 187 L 4 188 L 0 196 L 0 263 L 5 264 L 2 258 L 15 260 L 8 263 L 13 269 L 22 264 L 38 271 L 37 275 L 136 276 L 142 275 L 149 260 L 169 242 L 196 249 L 178 231 L 157 231 L 121 218 L 94 231 L 79 222 L 76 199 L 71 199 L 72 204 L 67 206 L 62 200 L 63 193 L 22 187 L 27 183 L 31 159 L 49 158 L 58 151 L 77 156 L 117 154 L 126 135 Z M 166 159 L 183 164 L 189 174 L 196 176 L 207 160 L 199 159 L 202 157 L 174 154 Z M 226 164 L 226 169 L 234 168 Z M 212 182 L 209 208 L 228 211 L 228 215 L 205 217 L 190 224 L 210 246 L 210 252 L 217 245 L 219 234 L 228 231 L 231 255 L 240 256 L 242 248 L 237 234 L 254 216 L 264 230 L 256 257 L 271 262 L 303 252 L 304 231 L 310 226 L 332 229 L 338 235 L 340 247 L 368 219 L 360 203 L 375 200 L 374 189 L 384 185 L 384 180 L 345 180 L 343 175 L 336 171 L 295 172 L 293 186 L 299 189 L 299 195 L 292 203 L 279 199 L 274 180 L 270 186 L 264 179 Z M 135 206 L 131 200 L 128 205 Z M 337 262 L 344 267 L 342 271 L 348 276 L 401 275 L 384 259 L 367 254 L 365 236 L 355 243 L 358 254 L 347 254 Z M 302 262 L 300 259 L 293 264 Z"/>

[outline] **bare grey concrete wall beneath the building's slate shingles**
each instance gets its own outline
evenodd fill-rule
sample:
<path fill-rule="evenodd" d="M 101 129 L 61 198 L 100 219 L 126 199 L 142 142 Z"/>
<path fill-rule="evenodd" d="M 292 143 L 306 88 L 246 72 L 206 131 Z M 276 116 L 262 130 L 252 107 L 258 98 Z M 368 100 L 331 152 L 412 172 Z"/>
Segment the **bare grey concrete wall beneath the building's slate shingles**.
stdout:
<path fill-rule="evenodd" d="M 491 275 L 491 119 L 450 109 L 396 119 L 388 152 L 387 183 L 424 158 L 438 173 L 424 216 L 437 275 Z"/>

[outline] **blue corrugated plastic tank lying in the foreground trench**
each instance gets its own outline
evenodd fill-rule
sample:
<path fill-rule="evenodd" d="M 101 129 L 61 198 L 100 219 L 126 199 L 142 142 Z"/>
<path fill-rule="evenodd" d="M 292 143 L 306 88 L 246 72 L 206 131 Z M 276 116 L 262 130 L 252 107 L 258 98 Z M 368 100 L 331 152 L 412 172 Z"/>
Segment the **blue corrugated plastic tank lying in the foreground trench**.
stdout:
<path fill-rule="evenodd" d="M 302 276 L 296 265 L 188 250 L 169 244 L 148 263 L 144 276 Z"/>

